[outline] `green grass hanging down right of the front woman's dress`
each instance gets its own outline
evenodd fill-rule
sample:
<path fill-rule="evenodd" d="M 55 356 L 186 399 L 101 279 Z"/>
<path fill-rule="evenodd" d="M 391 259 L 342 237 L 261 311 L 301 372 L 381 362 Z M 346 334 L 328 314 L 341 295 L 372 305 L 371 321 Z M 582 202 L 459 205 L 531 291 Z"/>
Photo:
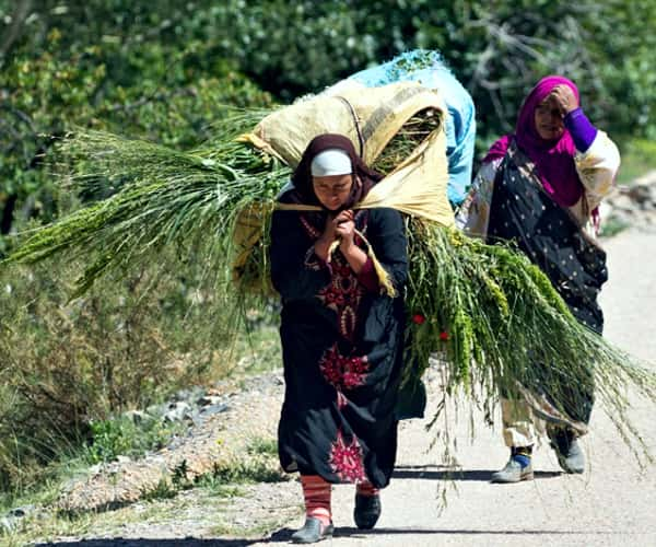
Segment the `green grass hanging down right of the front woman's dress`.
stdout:
<path fill-rule="evenodd" d="M 548 277 L 519 251 L 487 245 L 421 220 L 409 221 L 407 309 L 413 361 L 421 375 L 432 352 L 446 357 L 447 391 L 544 396 L 583 407 L 595 395 L 639 461 L 652 459 L 628 417 L 628 386 L 656 401 L 656 374 L 583 326 Z M 535 363 L 542 363 L 536 365 Z"/>

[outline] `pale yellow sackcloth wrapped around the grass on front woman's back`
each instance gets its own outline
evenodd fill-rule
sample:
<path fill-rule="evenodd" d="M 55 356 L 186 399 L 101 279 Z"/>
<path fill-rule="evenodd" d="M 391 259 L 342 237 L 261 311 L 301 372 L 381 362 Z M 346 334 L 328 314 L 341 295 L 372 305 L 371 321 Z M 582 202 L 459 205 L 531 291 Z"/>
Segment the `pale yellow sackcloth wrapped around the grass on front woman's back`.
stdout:
<path fill-rule="evenodd" d="M 282 108 L 262 119 L 241 140 L 295 167 L 312 139 L 326 132 L 351 139 L 365 163 L 372 165 L 394 136 L 412 116 L 426 108 L 441 113 L 440 128 L 420 143 L 383 181 L 377 183 L 356 209 L 390 207 L 444 226 L 454 224 L 446 195 L 445 112 L 440 92 L 403 82 L 383 88 L 345 89 L 339 95 L 316 96 Z M 278 205 L 281 209 L 317 210 L 316 207 Z M 250 222 L 250 218 L 248 217 Z M 263 234 L 263 226 L 259 230 Z M 246 240 L 235 261 L 233 275 L 253 259 L 249 249 L 257 244 Z M 251 245 L 249 247 L 248 245 Z M 375 257 L 374 257 L 375 258 Z M 384 280 L 382 280 L 384 281 Z M 391 291 L 387 291 L 391 293 Z"/>

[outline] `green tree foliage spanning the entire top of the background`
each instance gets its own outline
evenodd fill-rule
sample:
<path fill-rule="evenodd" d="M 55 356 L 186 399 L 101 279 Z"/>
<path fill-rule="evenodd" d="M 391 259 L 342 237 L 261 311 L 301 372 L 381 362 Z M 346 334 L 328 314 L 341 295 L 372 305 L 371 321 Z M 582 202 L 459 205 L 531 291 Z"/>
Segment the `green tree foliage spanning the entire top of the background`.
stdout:
<path fill-rule="evenodd" d="M 655 25 L 655 0 L 0 0 L 0 232 L 56 213 L 42 154 L 74 126 L 184 149 L 223 104 L 291 101 L 415 47 L 472 94 L 479 151 L 551 72 L 613 136 L 654 138 Z"/>

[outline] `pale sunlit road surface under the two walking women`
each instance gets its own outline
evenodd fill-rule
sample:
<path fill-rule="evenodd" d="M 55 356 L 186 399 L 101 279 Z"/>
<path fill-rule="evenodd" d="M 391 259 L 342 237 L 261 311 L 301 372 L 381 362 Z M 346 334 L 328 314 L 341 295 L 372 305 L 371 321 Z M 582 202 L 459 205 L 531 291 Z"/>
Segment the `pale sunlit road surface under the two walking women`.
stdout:
<path fill-rule="evenodd" d="M 620 234 L 606 248 L 606 336 L 656 368 L 656 233 Z M 631 416 L 656 454 L 654 410 L 635 398 Z M 554 454 L 542 445 L 534 458 L 536 480 L 518 485 L 488 482 L 490 473 L 505 464 L 507 451 L 499 429 L 485 428 L 481 415 L 475 415 L 473 441 L 467 422 L 458 422 L 462 475 L 453 481 L 437 465 L 440 454 L 429 450 L 426 422 L 405 422 L 398 469 L 383 492 L 376 529 L 363 534 L 353 527 L 353 488 L 339 486 L 333 493 L 337 535 L 321 545 L 656 546 L 656 465 L 641 473 L 599 406 L 584 442 L 588 469 L 583 476 L 562 475 Z M 445 487 L 447 505 L 440 513 Z M 291 522 L 289 528 L 301 524 Z M 281 531 L 271 543 L 288 538 L 289 531 Z"/>

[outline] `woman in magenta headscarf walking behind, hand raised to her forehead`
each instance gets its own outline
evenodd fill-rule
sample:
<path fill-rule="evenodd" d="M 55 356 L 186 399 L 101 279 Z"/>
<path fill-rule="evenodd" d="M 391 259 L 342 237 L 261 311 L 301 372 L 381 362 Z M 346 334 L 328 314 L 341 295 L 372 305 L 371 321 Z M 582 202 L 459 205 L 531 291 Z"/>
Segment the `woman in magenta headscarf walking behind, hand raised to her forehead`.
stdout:
<path fill-rule="evenodd" d="M 601 334 L 597 294 L 608 272 L 606 254 L 595 240 L 597 208 L 611 190 L 619 165 L 617 147 L 584 114 L 576 85 L 549 75 L 524 101 L 515 133 L 490 148 L 457 223 L 488 243 L 513 241 L 549 277 L 572 314 Z M 529 405 L 516 389 L 502 389 L 511 458 L 492 475 L 494 482 L 532 479 L 532 445 L 544 421 L 563 470 L 585 468 L 576 439 L 587 430 L 593 408 L 591 374 L 587 383 L 567 385 L 566 393 L 549 393 L 553 371 L 540 362 L 536 346 L 527 361 L 535 376 L 543 379 L 542 393 L 532 394 L 537 397 Z M 557 383 L 563 385 L 562 379 Z M 536 400 L 546 406 L 537 407 Z"/>

